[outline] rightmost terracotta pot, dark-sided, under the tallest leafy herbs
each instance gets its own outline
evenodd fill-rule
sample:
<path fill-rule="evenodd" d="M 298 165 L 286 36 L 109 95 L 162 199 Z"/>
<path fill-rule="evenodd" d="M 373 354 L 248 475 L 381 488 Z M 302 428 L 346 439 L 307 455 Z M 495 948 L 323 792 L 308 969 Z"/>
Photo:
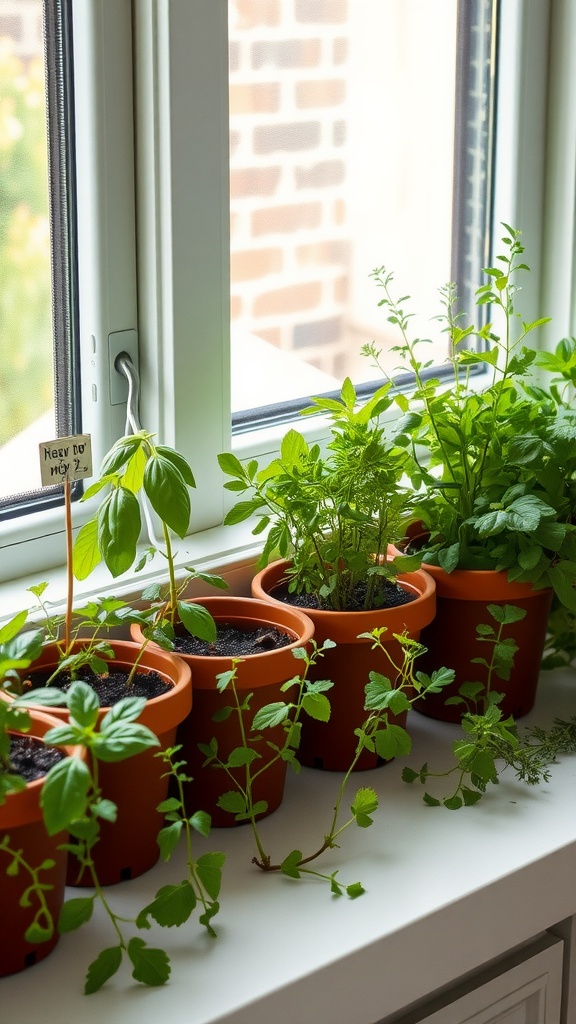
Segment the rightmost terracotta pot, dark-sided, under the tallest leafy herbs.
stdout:
<path fill-rule="evenodd" d="M 519 645 L 509 680 L 493 679 L 492 690 L 503 693 L 499 705 L 505 716 L 522 718 L 533 708 L 540 662 L 546 636 L 551 590 L 533 590 L 527 583 L 509 583 L 505 572 L 490 569 L 455 569 L 445 572 L 437 565 L 426 565 L 437 587 L 437 613 L 422 631 L 421 642 L 427 653 L 418 667 L 431 672 L 445 665 L 456 672 L 456 680 L 440 694 L 430 694 L 415 705 L 415 710 L 444 722 L 459 722 L 462 705 L 448 705 L 464 682 L 486 682 L 486 668 L 472 658 L 487 657 L 486 643 L 477 640 L 477 626 L 487 623 L 497 627 L 487 611 L 488 604 L 512 604 L 526 610 L 526 616 L 504 627 L 504 637 L 513 637 Z"/>

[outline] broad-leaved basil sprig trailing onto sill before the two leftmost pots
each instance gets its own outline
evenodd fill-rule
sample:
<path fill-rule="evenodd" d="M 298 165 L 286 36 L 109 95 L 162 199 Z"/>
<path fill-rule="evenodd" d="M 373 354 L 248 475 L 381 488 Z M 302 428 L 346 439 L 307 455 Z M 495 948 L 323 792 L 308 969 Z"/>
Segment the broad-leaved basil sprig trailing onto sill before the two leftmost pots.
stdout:
<path fill-rule="evenodd" d="M 196 864 L 192 858 L 189 829 L 196 828 L 202 835 L 207 835 L 207 816 L 199 814 L 187 818 L 183 805 L 177 801 L 161 805 L 170 817 L 168 830 L 163 829 L 159 836 L 162 855 L 164 859 L 168 859 L 183 828 L 189 851 L 189 878 L 179 886 L 163 887 L 156 894 L 155 900 L 136 918 L 128 919 L 118 914 L 99 883 L 92 857 L 92 851 L 98 842 L 100 822 L 114 822 L 117 816 L 116 805 L 100 790 L 98 765 L 99 762 L 124 761 L 158 745 L 158 739 L 150 729 L 136 721 L 145 707 L 145 698 L 129 696 L 118 701 L 104 716 L 99 727 L 98 699 L 87 684 L 75 682 L 66 694 L 66 703 L 70 713 L 69 723 L 51 729 L 45 740 L 58 744 L 81 744 L 89 752 L 90 759 L 89 762 L 83 762 L 77 758 L 66 758 L 50 769 L 42 791 L 42 808 L 49 835 L 56 835 L 61 829 L 70 834 L 66 849 L 78 860 L 79 870 L 87 871 L 93 892 L 88 896 L 67 900 L 60 912 L 58 930 L 60 933 L 72 932 L 89 922 L 96 902 L 99 902 L 108 915 L 116 942 L 102 949 L 89 965 L 84 986 L 86 994 L 101 988 L 117 973 L 125 957 L 131 964 L 132 977 L 136 981 L 151 986 L 163 985 L 168 981 L 171 970 L 168 955 L 163 949 L 148 946 L 137 934 L 127 937 L 126 929 L 130 926 L 133 930 L 150 928 L 150 918 L 165 927 L 180 925 L 191 916 L 198 902 L 196 894 L 199 893 L 205 911 L 201 922 L 213 935 L 210 919 L 217 912 L 218 906 L 215 896 L 212 898 L 209 895 L 207 898 L 205 890 L 217 895 L 218 872 L 223 856 L 216 854 L 208 864 Z M 170 760 L 172 753 L 165 752 L 162 757 L 167 760 L 169 771 L 174 772 L 177 768 Z"/>

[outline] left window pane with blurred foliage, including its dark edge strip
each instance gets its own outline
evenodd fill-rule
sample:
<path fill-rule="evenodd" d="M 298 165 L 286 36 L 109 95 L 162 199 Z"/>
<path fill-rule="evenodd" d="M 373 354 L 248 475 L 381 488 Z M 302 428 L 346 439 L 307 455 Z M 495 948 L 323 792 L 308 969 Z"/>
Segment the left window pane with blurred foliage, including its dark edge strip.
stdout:
<path fill-rule="evenodd" d="M 23 503 L 30 502 L 40 486 L 38 443 L 72 427 L 70 147 L 63 134 L 68 114 L 65 15 L 60 0 L 0 0 L 0 511 L 4 514 L 22 511 Z M 42 497 L 53 500 L 59 488 L 48 488 Z"/>

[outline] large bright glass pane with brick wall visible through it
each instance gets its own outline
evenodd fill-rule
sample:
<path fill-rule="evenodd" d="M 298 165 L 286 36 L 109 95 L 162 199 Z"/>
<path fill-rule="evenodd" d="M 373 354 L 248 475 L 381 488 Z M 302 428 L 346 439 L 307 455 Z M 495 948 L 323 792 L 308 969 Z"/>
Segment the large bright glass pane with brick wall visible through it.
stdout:
<path fill-rule="evenodd" d="M 369 276 L 382 264 L 442 361 L 457 0 L 230 0 L 229 13 L 233 411 L 373 378 L 361 346 L 396 341 Z"/>

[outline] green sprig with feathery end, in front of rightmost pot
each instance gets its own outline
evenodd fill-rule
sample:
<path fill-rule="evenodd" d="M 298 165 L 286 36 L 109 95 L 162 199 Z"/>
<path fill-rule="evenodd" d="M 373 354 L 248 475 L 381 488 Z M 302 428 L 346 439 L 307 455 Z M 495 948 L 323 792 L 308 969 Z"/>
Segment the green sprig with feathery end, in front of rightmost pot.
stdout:
<path fill-rule="evenodd" d="M 465 708 L 460 723 L 464 735 L 452 748 L 454 764 L 446 771 L 431 771 L 427 763 L 419 771 L 409 767 L 403 771 L 402 777 L 409 783 L 419 781 L 425 785 L 430 779 L 454 779 L 454 788 L 447 797 L 439 799 L 427 790 L 424 792 L 424 803 L 430 807 L 444 805 L 449 810 L 458 810 L 477 804 L 489 785 L 498 784 L 504 768 L 510 768 L 528 785 L 548 781 L 557 755 L 576 750 L 576 718 L 558 722 L 549 733 L 533 729 L 522 737 L 515 719 L 502 716 L 498 707 L 502 694 L 494 688 L 495 678 L 509 678 L 518 650 L 516 641 L 504 636 L 504 631 L 524 618 L 526 611 L 508 604 L 489 604 L 487 610 L 495 625 L 480 624 L 477 639 L 487 644 L 489 654 L 474 658 L 485 670 L 486 681 L 463 683 L 459 696 L 446 701 Z"/>

